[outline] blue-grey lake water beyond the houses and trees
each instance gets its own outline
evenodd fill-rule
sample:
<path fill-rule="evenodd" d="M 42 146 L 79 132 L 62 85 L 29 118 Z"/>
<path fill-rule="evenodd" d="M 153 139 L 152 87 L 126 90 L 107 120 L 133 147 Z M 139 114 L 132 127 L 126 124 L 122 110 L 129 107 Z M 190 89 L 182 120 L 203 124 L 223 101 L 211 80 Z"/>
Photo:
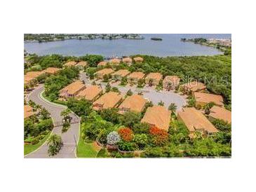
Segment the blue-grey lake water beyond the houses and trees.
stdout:
<path fill-rule="evenodd" d="M 98 54 L 106 57 L 123 55 L 154 55 L 159 57 L 182 55 L 217 55 L 221 52 L 208 46 L 184 43 L 181 38 L 217 38 L 230 39 L 231 34 L 142 34 L 143 40 L 66 40 L 47 43 L 25 43 L 28 53 L 37 55 L 61 54 L 81 56 Z M 151 37 L 160 37 L 163 41 L 152 41 Z"/>

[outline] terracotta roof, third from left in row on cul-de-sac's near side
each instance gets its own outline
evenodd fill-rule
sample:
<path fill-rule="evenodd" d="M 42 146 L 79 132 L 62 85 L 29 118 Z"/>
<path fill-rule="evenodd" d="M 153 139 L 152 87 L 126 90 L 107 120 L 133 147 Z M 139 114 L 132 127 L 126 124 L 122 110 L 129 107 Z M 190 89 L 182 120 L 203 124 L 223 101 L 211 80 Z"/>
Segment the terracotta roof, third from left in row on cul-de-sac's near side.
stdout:
<path fill-rule="evenodd" d="M 107 108 L 112 108 L 114 107 L 116 104 L 118 104 L 118 102 L 120 102 L 122 99 L 122 96 L 119 95 L 118 92 L 107 92 L 104 95 L 102 95 L 98 100 L 96 100 L 95 102 L 93 102 L 93 106 L 100 104 L 103 105 L 103 109 L 107 109 Z M 93 109 L 96 109 L 97 107 L 93 107 Z"/>

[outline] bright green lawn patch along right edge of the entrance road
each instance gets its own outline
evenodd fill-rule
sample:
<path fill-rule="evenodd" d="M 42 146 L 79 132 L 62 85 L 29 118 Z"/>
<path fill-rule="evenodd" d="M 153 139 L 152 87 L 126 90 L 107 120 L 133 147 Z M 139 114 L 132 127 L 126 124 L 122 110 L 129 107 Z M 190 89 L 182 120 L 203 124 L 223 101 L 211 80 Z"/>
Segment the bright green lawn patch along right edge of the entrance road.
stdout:
<path fill-rule="evenodd" d="M 95 158 L 97 151 L 95 150 L 93 143 L 85 142 L 82 135 L 82 125 L 80 128 L 79 144 L 77 145 L 76 156 L 78 158 Z"/>

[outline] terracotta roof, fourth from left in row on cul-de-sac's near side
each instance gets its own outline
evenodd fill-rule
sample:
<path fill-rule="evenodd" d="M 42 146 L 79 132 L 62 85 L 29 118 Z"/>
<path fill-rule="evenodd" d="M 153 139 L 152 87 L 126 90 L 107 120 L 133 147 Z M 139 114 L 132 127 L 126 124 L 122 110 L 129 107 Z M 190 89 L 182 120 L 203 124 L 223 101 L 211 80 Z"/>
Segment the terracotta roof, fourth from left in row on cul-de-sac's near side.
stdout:
<path fill-rule="evenodd" d="M 141 112 L 144 109 L 147 100 L 141 95 L 131 95 L 126 97 L 119 109 L 129 109 L 130 111 Z"/>

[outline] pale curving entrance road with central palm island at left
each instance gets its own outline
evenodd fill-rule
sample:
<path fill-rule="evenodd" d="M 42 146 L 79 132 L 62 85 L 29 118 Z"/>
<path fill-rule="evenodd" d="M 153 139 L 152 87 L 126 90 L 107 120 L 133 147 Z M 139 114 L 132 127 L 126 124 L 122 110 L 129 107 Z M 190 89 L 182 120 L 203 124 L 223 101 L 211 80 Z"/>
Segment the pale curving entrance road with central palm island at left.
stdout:
<path fill-rule="evenodd" d="M 32 91 L 29 95 L 28 100 L 32 100 L 36 104 L 40 104 L 50 112 L 50 116 L 53 118 L 53 123 L 62 121 L 60 116 L 61 111 L 66 109 L 64 106 L 55 105 L 40 97 L 43 92 L 43 85 Z M 72 118 L 77 118 L 74 114 L 71 114 Z M 27 154 L 25 158 L 76 158 L 76 142 L 79 139 L 79 125 L 80 123 L 72 124 L 67 132 L 62 133 L 62 126 L 53 128 L 53 133 L 62 137 L 63 146 L 60 152 L 56 156 L 48 156 L 48 146 L 43 144 L 36 151 Z M 76 142 L 75 142 L 76 141 Z"/>

